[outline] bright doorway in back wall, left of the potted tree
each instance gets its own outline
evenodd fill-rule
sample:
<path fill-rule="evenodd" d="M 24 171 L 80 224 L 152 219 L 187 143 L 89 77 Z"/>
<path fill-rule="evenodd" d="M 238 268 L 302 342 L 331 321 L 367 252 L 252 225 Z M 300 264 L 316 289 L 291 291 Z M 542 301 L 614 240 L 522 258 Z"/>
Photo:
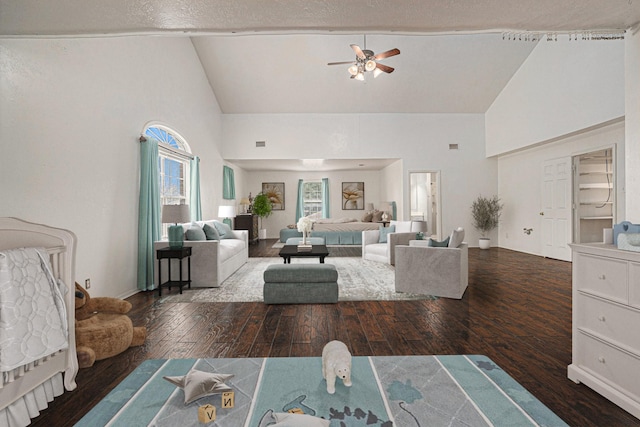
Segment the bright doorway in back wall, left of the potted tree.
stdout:
<path fill-rule="evenodd" d="M 439 238 L 440 225 L 440 172 L 409 172 L 409 212 L 411 220 L 426 221 L 426 236 Z"/>

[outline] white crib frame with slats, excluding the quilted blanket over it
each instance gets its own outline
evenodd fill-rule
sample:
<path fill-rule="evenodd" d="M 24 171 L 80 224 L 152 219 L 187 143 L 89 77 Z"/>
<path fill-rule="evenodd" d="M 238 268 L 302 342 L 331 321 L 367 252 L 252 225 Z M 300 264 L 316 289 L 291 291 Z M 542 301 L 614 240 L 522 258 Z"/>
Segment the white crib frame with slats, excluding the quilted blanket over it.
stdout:
<path fill-rule="evenodd" d="M 53 275 L 66 287 L 64 295 L 68 349 L 36 362 L 2 372 L 0 382 L 0 426 L 26 426 L 47 408 L 54 397 L 76 388 L 78 360 L 75 345 L 75 248 L 71 231 L 34 224 L 17 218 L 0 218 L 0 250 L 44 247 L 49 254 Z"/>

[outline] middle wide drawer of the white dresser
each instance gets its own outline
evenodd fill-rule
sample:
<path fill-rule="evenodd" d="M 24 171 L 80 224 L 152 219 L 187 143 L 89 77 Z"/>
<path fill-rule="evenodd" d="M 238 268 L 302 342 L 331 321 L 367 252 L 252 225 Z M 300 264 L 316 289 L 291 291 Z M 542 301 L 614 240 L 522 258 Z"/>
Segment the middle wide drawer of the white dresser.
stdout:
<path fill-rule="evenodd" d="M 588 329 L 640 354 L 640 311 L 578 293 L 576 327 Z"/>

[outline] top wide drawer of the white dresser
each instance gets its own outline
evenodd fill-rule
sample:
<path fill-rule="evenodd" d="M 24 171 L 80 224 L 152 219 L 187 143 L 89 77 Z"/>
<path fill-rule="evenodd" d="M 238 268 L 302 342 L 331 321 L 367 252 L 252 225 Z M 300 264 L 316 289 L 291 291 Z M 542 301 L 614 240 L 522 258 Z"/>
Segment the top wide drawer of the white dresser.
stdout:
<path fill-rule="evenodd" d="M 627 261 L 579 253 L 574 259 L 578 290 L 627 304 Z"/>

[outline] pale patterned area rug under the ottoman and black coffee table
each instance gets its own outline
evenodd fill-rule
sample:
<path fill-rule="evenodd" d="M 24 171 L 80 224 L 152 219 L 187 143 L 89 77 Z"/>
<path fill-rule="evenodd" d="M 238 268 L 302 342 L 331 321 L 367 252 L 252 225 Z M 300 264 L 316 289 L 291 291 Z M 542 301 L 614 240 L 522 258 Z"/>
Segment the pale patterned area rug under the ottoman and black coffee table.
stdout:
<path fill-rule="evenodd" d="M 252 302 L 263 301 L 263 273 L 270 264 L 282 264 L 280 257 L 249 258 L 219 288 L 183 289 L 182 294 L 165 294 L 163 302 Z M 292 258 L 291 263 L 318 262 Z M 392 266 L 361 257 L 327 257 L 326 264 L 338 270 L 338 299 L 340 301 L 391 301 L 435 299 L 429 295 L 396 292 L 395 270 Z M 165 296 L 166 295 L 166 296 Z"/>

